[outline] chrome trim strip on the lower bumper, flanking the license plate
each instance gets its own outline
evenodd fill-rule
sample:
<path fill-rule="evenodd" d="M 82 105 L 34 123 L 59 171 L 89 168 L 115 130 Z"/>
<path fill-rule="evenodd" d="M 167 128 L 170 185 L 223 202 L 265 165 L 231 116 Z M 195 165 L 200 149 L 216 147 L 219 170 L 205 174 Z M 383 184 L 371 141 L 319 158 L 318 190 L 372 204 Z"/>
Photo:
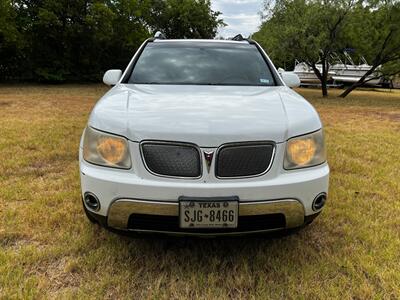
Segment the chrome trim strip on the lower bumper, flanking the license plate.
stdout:
<path fill-rule="evenodd" d="M 108 226 L 127 230 L 129 216 L 133 213 L 178 216 L 179 202 L 117 199 L 109 208 L 107 221 Z M 298 227 L 304 223 L 304 206 L 300 201 L 295 199 L 239 202 L 239 216 L 254 216 L 273 213 L 282 213 L 285 215 L 286 228 Z M 161 232 L 165 233 L 164 231 Z M 180 232 L 177 234 L 180 234 Z"/>

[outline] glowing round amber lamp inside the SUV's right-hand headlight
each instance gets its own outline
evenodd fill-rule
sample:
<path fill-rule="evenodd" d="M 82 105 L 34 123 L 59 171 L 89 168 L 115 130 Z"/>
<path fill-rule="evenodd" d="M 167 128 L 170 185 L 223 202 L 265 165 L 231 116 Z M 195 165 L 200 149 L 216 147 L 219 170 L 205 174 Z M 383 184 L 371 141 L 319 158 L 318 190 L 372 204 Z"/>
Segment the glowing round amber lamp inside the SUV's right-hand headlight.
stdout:
<path fill-rule="evenodd" d="M 290 160 L 298 166 L 308 164 L 315 155 L 317 147 L 313 139 L 292 140 L 288 143 Z"/>

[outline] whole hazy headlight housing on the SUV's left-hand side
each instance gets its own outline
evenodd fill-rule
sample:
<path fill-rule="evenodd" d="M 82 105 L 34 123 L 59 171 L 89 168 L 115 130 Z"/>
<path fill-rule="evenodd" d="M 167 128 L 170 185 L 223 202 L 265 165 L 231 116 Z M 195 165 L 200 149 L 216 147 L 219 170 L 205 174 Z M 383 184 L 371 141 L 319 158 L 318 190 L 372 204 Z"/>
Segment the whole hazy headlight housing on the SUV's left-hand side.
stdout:
<path fill-rule="evenodd" d="M 90 127 L 85 129 L 83 158 L 96 165 L 121 169 L 131 168 L 127 140 Z"/>

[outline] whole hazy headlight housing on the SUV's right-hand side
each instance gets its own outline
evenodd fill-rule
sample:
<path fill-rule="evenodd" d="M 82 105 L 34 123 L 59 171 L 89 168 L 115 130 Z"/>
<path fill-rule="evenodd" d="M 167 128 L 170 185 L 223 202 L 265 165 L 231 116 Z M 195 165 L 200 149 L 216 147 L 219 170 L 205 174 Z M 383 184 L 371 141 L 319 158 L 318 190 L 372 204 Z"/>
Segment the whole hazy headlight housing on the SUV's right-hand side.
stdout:
<path fill-rule="evenodd" d="M 326 161 L 322 129 L 288 140 L 284 168 L 299 169 L 320 165 Z"/>

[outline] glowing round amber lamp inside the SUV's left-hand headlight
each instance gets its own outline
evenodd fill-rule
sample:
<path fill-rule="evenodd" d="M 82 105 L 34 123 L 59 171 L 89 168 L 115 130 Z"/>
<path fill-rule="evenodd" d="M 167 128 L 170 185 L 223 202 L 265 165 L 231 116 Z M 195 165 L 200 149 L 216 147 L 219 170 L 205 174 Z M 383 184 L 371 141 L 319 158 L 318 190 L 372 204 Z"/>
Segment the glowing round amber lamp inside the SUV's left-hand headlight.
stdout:
<path fill-rule="evenodd" d="M 117 164 L 125 157 L 125 145 L 126 144 L 122 139 L 103 137 L 97 141 L 97 152 L 105 161 Z"/>

